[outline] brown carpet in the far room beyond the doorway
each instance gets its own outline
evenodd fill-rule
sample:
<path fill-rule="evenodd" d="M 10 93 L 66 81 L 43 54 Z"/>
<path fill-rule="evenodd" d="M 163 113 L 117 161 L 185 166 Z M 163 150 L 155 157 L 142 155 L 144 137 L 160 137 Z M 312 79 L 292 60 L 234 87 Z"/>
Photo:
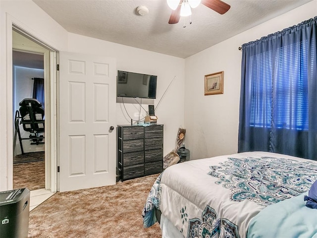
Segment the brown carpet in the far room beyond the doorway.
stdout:
<path fill-rule="evenodd" d="M 45 188 L 45 161 L 13 164 L 13 189 Z"/>

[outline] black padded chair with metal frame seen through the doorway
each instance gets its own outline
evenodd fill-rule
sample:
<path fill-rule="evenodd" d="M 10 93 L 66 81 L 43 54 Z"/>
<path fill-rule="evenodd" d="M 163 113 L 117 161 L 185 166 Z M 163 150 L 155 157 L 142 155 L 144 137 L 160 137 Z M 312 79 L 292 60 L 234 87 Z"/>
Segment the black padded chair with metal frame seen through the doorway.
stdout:
<path fill-rule="evenodd" d="M 41 103 L 34 98 L 25 98 L 20 102 L 20 109 L 15 112 L 15 133 L 13 140 L 13 153 L 15 150 L 16 136 L 18 135 L 21 152 L 24 154 L 22 140 L 30 140 L 31 145 L 44 143 L 44 136 L 40 133 L 44 132 L 44 108 Z M 22 124 L 25 131 L 30 132 L 29 138 L 22 138 L 19 124 Z"/>

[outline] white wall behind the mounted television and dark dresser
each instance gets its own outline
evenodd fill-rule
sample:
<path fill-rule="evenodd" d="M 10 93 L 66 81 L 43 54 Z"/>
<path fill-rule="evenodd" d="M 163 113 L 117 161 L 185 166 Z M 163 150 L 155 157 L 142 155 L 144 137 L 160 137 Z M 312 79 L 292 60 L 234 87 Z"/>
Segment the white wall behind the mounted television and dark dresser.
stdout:
<path fill-rule="evenodd" d="M 146 111 L 148 104 L 154 104 L 155 107 L 158 105 L 167 86 L 176 76 L 155 112 L 159 118 L 158 123 L 164 124 L 164 155 L 175 148 L 178 127 L 184 126 L 184 59 L 72 33 L 69 33 L 68 50 L 115 58 L 117 70 L 158 75 L 157 99 L 142 101 Z M 117 124 L 130 124 L 120 100 L 116 106 Z M 124 99 L 124 102 L 127 102 L 124 105 L 130 117 L 138 119 L 139 104 L 133 99 Z M 145 116 L 143 109 L 142 113 Z"/>

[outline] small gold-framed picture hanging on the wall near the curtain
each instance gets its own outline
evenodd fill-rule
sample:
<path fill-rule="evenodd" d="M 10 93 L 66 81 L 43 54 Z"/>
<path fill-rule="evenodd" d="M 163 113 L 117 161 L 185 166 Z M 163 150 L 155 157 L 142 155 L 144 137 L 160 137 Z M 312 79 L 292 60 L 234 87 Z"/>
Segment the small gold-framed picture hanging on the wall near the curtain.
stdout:
<path fill-rule="evenodd" d="M 205 75 L 205 95 L 223 94 L 223 71 Z"/>

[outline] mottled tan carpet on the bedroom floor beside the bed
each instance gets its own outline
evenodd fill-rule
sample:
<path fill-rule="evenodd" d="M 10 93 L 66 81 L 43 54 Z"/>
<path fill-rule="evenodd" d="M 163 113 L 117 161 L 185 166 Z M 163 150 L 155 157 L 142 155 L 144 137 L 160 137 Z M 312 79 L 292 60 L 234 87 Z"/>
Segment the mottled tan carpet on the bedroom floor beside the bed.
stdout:
<path fill-rule="evenodd" d="M 142 211 L 158 175 L 99 188 L 57 192 L 30 212 L 29 238 L 161 238 Z"/>

